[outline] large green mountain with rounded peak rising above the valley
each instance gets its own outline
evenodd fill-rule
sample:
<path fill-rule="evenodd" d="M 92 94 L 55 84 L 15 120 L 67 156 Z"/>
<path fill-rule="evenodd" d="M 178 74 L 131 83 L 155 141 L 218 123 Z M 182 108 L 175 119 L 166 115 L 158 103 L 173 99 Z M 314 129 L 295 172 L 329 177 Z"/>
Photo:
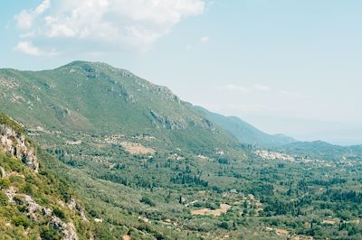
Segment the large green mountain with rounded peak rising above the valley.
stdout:
<path fill-rule="evenodd" d="M 104 63 L 0 69 L 0 102 L 20 122 L 48 130 L 148 134 L 193 149 L 237 143 L 167 88 Z"/>

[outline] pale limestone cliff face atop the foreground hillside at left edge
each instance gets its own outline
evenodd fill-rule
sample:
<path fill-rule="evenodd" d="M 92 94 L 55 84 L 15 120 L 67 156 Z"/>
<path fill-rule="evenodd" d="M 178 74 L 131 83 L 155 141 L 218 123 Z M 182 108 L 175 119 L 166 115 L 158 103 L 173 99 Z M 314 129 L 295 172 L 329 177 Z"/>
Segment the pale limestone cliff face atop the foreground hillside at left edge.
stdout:
<path fill-rule="evenodd" d="M 7 125 L 0 125 L 0 149 L 20 159 L 33 171 L 39 171 L 39 161 L 34 147 L 26 141 L 24 134 L 17 134 Z"/>

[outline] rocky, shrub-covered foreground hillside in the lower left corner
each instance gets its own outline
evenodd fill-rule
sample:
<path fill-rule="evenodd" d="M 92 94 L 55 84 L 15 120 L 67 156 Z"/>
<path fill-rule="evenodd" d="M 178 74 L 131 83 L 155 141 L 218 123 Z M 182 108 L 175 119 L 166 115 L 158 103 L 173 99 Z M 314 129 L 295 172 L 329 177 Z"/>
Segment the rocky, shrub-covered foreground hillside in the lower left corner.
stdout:
<path fill-rule="evenodd" d="M 52 156 L 38 150 L 24 132 L 21 125 L 0 115 L 0 238 L 92 237 L 78 198 L 43 166 L 43 159 Z"/>

